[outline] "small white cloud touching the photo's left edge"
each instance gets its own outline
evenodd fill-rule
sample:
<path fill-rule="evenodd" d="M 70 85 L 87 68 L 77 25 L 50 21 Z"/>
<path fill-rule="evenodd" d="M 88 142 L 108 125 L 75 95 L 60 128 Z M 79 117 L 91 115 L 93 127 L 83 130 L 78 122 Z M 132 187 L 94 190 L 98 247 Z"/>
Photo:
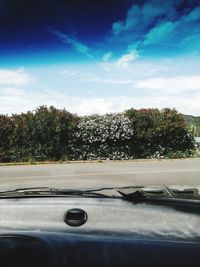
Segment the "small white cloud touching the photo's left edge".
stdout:
<path fill-rule="evenodd" d="M 24 70 L 0 69 L 0 85 L 22 86 L 33 81 L 33 78 L 26 74 Z"/>

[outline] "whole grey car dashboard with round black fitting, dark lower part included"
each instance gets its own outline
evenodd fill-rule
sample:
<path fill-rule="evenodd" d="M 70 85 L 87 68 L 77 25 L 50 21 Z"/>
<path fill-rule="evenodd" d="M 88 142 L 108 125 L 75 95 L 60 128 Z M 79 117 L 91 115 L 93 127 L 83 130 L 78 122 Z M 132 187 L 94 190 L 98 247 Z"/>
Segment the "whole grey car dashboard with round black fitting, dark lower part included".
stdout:
<path fill-rule="evenodd" d="M 199 225 L 185 205 L 1 199 L 0 266 L 199 266 Z"/>

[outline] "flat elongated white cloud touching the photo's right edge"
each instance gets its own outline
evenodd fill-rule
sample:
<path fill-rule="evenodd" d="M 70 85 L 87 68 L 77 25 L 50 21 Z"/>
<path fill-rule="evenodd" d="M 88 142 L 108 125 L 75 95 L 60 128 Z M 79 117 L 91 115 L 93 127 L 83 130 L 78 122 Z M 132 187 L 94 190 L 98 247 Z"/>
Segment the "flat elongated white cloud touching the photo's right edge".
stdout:
<path fill-rule="evenodd" d="M 200 75 L 149 78 L 136 82 L 135 87 L 148 90 L 160 90 L 160 93 L 163 91 L 174 93 L 199 92 Z"/>

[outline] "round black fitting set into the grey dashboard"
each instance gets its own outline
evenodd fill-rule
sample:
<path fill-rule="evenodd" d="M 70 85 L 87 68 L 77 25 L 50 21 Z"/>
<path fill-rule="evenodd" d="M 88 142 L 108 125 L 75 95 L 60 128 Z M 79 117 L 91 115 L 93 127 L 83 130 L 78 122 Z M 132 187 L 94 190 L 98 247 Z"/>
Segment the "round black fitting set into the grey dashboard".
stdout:
<path fill-rule="evenodd" d="M 70 226 L 81 226 L 87 221 L 87 213 L 82 209 L 70 209 L 64 215 L 64 221 Z"/>

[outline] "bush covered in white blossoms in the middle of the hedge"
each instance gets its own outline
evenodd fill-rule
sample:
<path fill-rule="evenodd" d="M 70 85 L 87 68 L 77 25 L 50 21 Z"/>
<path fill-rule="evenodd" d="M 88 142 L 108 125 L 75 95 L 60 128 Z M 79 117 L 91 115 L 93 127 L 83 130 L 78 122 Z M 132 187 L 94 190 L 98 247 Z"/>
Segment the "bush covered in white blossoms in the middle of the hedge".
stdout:
<path fill-rule="evenodd" d="M 81 118 L 73 144 L 73 159 L 130 159 L 133 136 L 130 120 L 122 113 Z"/>

